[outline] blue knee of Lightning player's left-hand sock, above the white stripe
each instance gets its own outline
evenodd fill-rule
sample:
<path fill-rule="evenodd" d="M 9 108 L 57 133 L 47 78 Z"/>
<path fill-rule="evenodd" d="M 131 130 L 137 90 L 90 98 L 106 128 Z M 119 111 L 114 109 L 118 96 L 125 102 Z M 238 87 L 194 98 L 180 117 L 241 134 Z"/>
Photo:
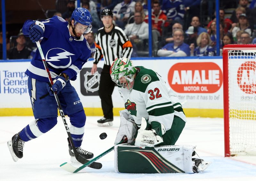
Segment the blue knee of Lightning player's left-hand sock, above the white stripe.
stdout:
<path fill-rule="evenodd" d="M 36 124 L 42 133 L 46 133 L 57 124 L 57 117 L 40 118 L 36 121 Z"/>

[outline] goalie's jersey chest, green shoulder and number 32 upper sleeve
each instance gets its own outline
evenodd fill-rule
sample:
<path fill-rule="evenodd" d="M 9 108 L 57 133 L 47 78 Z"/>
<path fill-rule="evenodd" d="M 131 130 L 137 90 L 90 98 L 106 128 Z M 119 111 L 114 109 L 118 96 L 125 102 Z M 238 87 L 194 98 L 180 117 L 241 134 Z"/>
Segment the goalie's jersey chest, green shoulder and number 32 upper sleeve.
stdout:
<path fill-rule="evenodd" d="M 149 110 L 158 104 L 171 103 L 168 90 L 162 78 L 153 70 L 136 67 L 140 72 L 136 75 L 134 86 L 124 106 L 130 112 L 137 125 L 141 117 L 149 119 Z M 152 114 L 151 114 L 152 115 Z"/>

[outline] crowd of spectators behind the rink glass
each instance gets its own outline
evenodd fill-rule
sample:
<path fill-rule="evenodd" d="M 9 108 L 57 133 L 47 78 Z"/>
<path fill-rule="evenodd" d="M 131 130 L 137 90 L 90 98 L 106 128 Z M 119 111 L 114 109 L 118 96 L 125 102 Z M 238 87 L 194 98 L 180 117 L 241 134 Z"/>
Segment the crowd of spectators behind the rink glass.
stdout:
<path fill-rule="evenodd" d="M 213 8 L 215 0 L 206 2 L 208 21 L 202 22 L 199 18 L 201 0 L 152 0 L 153 56 L 216 56 L 217 31 L 220 31 L 220 49 L 227 44 L 256 43 L 256 0 L 237 0 L 237 7 L 229 15 L 220 8 L 219 30 Z M 148 1 L 81 0 L 81 6 L 92 16 L 92 31 L 84 35 L 92 49 L 91 57 L 95 51 L 94 34 L 103 26 L 100 13 L 105 8 L 113 11 L 114 25 L 122 28 L 131 40 L 132 57 L 148 56 Z M 67 0 L 67 11 L 54 15 L 68 21 L 75 7 L 75 0 Z M 17 45 L 8 50 L 9 59 L 32 57 L 35 47 L 27 47 L 28 39 L 23 37 L 19 33 Z"/>

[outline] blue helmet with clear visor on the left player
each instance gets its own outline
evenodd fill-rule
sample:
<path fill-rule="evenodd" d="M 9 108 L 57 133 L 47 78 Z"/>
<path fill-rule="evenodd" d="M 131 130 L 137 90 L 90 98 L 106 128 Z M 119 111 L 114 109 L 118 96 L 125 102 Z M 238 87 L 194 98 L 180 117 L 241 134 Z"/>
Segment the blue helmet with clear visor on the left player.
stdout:
<path fill-rule="evenodd" d="M 82 25 L 88 26 L 84 33 L 89 33 L 92 29 L 92 16 L 91 13 L 85 8 L 76 8 L 72 15 L 71 20 L 74 19 L 74 25 L 81 23 Z"/>

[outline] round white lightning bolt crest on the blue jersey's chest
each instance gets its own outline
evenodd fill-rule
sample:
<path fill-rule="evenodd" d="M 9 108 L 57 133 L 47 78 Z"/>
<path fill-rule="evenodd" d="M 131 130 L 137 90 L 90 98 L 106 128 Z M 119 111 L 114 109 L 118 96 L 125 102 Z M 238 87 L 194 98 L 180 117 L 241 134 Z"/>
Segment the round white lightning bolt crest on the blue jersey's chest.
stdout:
<path fill-rule="evenodd" d="M 53 68 L 65 69 L 71 65 L 72 59 L 70 55 L 75 54 L 71 54 L 62 48 L 52 48 L 47 52 L 45 59 Z"/>

